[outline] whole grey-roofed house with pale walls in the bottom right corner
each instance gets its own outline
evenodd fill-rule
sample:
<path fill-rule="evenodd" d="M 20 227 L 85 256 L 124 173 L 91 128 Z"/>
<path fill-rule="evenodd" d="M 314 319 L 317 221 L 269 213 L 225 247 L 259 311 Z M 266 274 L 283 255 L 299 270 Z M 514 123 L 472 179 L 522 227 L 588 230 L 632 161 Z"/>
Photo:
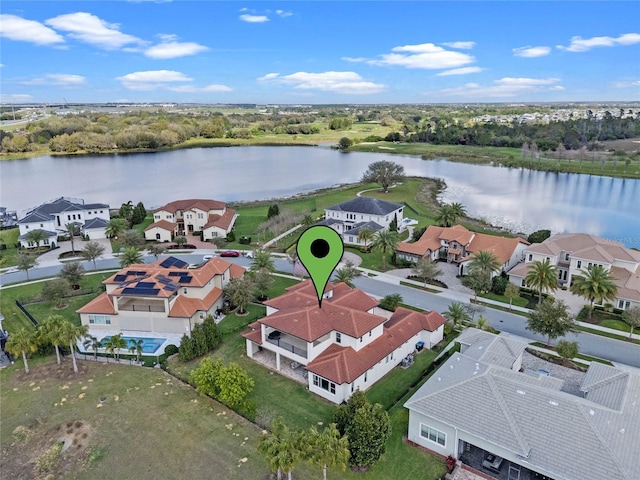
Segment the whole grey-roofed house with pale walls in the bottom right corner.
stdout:
<path fill-rule="evenodd" d="M 409 440 L 456 458 L 476 447 L 526 478 L 640 478 L 639 375 L 593 362 L 580 395 L 567 393 L 559 378 L 518 371 L 524 344 L 475 332 L 405 403 Z"/>

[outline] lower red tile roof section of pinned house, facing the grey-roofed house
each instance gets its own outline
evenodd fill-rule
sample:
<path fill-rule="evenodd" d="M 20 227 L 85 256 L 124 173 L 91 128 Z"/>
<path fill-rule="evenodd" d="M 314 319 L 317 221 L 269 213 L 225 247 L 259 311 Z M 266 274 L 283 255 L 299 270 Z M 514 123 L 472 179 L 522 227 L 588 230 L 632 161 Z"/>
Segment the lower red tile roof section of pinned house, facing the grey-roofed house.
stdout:
<path fill-rule="evenodd" d="M 336 384 L 351 383 L 421 330 L 434 331 L 445 322 L 437 312 L 420 313 L 399 307 L 385 323 L 380 338 L 357 352 L 333 344 L 306 368 Z"/>

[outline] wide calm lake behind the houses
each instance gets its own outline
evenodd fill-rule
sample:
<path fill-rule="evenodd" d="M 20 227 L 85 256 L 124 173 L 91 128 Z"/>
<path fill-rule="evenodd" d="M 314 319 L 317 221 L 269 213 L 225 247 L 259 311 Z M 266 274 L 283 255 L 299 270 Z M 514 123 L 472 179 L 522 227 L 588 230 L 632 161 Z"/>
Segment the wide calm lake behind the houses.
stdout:
<path fill-rule="evenodd" d="M 640 180 L 548 173 L 326 147 L 196 148 L 160 153 L 43 156 L 0 162 L 0 205 L 18 210 L 60 196 L 148 208 L 181 198 L 264 200 L 356 182 L 391 160 L 407 175 L 440 178 L 445 202 L 530 233 L 585 232 L 640 248 Z"/>

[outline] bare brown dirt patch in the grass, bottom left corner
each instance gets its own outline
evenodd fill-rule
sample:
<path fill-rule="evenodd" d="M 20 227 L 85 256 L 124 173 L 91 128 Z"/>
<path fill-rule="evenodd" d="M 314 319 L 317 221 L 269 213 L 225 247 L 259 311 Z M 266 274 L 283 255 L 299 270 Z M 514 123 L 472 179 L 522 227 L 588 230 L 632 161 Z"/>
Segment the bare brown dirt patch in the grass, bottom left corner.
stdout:
<path fill-rule="evenodd" d="M 93 438 L 93 428 L 74 420 L 46 429 L 34 424 L 18 427 L 14 443 L 0 450 L 2 478 L 58 479 L 82 468 Z M 55 452 L 52 454 L 52 450 Z M 47 461 L 45 461 L 47 460 Z"/>

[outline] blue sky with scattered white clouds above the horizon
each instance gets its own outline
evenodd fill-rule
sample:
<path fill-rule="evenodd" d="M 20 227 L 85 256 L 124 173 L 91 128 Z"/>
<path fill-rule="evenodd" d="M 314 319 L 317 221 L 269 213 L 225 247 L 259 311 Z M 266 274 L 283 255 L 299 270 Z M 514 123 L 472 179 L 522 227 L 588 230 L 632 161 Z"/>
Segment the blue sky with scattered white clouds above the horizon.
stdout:
<path fill-rule="evenodd" d="M 2 102 L 640 100 L 640 2 L 7 1 Z"/>

